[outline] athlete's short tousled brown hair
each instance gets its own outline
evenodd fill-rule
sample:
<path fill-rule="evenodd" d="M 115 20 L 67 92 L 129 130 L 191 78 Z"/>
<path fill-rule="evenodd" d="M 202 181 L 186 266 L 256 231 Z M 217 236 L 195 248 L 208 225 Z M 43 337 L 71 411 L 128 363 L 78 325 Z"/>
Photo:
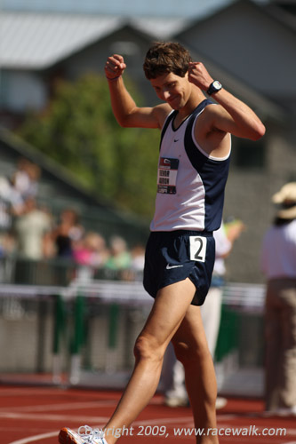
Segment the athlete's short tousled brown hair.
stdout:
<path fill-rule="evenodd" d="M 143 68 L 148 80 L 165 73 L 184 77 L 190 61 L 192 61 L 190 53 L 181 44 L 156 42 L 148 50 Z"/>

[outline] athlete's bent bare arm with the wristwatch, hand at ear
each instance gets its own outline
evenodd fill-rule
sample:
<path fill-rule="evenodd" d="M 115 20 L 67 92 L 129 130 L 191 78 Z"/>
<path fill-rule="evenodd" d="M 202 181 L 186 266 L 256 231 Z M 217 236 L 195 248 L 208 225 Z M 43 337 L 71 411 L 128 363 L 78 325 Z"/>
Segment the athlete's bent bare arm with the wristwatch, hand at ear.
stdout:
<path fill-rule="evenodd" d="M 203 63 L 193 62 L 189 64 L 188 81 L 196 84 L 202 91 L 208 91 L 213 82 Z M 257 140 L 265 133 L 265 126 L 250 107 L 236 99 L 224 88 L 212 94 L 221 107 L 207 107 L 207 113 L 211 114 L 212 127 L 220 131 L 245 138 Z"/>

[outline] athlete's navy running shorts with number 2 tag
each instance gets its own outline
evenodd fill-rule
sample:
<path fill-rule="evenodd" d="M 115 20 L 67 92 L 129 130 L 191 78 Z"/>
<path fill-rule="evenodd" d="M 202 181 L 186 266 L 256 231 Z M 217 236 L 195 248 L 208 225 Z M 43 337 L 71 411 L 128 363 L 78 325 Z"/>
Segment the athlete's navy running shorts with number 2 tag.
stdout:
<path fill-rule="evenodd" d="M 196 286 L 192 305 L 203 305 L 212 279 L 215 240 L 212 233 L 176 230 L 151 232 L 148 238 L 143 284 L 148 294 L 189 278 Z"/>

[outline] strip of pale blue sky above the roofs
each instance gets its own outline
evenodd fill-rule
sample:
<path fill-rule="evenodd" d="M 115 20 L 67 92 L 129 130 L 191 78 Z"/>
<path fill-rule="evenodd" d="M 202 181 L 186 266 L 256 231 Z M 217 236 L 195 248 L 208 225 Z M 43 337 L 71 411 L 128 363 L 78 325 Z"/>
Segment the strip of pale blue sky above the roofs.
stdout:
<path fill-rule="evenodd" d="M 234 0 L 0 0 L 0 9 L 40 12 L 87 12 L 125 16 L 204 16 Z M 267 0 L 256 0 L 267 3 Z"/>

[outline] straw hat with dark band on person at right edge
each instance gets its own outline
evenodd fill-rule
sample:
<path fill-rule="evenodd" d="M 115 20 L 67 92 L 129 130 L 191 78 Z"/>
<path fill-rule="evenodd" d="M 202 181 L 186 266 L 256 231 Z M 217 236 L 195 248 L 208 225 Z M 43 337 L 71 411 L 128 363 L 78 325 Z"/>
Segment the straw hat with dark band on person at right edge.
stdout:
<path fill-rule="evenodd" d="M 272 202 L 280 204 L 280 210 L 276 213 L 277 218 L 296 218 L 296 182 L 285 184 L 272 196 Z"/>

